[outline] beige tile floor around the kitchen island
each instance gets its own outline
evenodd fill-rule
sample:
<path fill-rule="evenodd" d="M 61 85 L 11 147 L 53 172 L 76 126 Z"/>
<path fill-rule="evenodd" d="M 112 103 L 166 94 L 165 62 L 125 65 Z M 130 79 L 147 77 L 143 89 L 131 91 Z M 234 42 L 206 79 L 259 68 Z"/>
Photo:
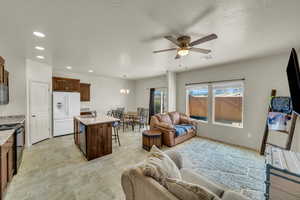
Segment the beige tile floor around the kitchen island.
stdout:
<path fill-rule="evenodd" d="M 111 155 L 89 162 L 75 146 L 72 135 L 52 138 L 25 149 L 19 173 L 13 178 L 5 200 L 125 199 L 121 173 L 144 160 L 147 151 L 142 148 L 140 132 L 121 132 L 120 140 L 120 147 L 113 142 Z M 184 150 L 201 140 L 195 137 L 174 149 Z M 187 158 L 184 164 L 193 166 Z"/>

